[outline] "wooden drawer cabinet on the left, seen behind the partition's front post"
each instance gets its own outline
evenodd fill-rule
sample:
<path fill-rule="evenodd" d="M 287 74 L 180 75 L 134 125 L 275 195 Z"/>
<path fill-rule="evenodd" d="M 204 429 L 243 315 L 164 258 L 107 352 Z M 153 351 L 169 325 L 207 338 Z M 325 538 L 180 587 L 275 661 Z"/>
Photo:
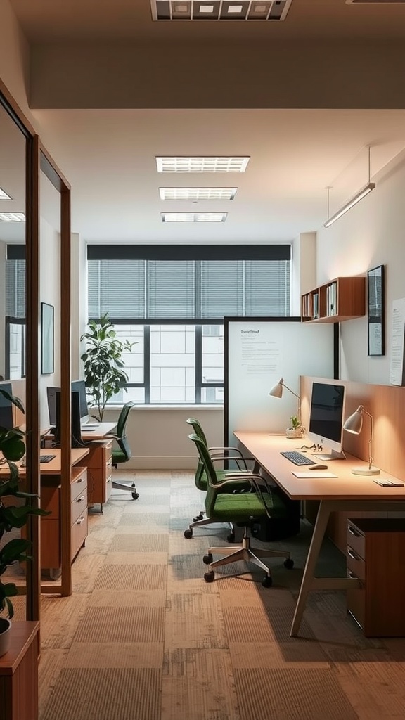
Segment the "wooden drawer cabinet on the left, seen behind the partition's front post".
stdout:
<path fill-rule="evenodd" d="M 41 518 L 41 567 L 61 567 L 61 485 L 60 477 L 41 477 L 40 505 L 50 515 Z M 87 536 L 87 469 L 72 467 L 71 472 L 71 560 Z"/>

